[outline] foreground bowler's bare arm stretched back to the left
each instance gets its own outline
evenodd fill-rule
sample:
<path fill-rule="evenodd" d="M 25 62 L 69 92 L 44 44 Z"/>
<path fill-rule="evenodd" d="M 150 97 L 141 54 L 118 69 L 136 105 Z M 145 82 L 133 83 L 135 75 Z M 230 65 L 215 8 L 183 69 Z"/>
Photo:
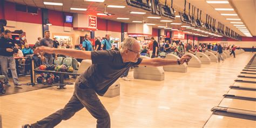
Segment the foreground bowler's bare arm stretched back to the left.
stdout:
<path fill-rule="evenodd" d="M 49 54 L 56 53 L 56 54 L 71 56 L 71 57 L 80 58 L 80 59 L 91 59 L 90 51 L 82 51 L 82 50 L 75 50 L 75 49 L 54 49 L 46 46 L 39 46 L 35 50 L 35 53 L 38 53 L 38 52 L 44 52 Z"/>

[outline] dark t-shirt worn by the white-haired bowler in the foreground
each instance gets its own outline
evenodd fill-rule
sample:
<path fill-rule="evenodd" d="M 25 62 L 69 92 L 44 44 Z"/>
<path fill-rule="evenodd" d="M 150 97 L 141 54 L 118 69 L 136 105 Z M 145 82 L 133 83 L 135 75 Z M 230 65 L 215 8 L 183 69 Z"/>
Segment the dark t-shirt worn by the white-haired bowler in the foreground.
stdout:
<path fill-rule="evenodd" d="M 103 96 L 126 70 L 142 62 L 142 58 L 138 58 L 136 63 L 124 63 L 120 52 L 116 50 L 92 51 L 91 59 L 92 65 L 78 79 L 82 84 L 95 89 L 100 96 Z"/>

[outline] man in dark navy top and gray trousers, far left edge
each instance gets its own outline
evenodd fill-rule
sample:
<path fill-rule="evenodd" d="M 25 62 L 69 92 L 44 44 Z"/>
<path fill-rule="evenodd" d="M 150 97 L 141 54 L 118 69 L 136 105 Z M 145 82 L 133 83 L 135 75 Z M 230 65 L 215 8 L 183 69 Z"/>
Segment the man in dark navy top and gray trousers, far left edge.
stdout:
<path fill-rule="evenodd" d="M 11 31 L 4 30 L 3 36 L 0 37 L 0 63 L 2 74 L 4 75 L 4 85 L 11 86 L 8 78 L 8 65 L 11 69 L 12 79 L 14 79 L 14 86 L 20 86 L 18 75 L 16 71 L 16 63 L 14 59 L 14 53 L 18 53 L 18 49 L 15 47 L 14 40 L 10 38 Z"/>

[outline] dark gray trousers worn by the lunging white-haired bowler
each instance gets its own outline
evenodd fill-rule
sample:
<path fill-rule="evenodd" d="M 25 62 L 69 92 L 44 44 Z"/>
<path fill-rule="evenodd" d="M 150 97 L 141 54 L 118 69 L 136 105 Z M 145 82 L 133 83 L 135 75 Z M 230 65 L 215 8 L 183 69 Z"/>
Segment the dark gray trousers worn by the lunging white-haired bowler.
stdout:
<path fill-rule="evenodd" d="M 79 78 L 78 78 L 79 79 Z M 76 80 L 75 91 L 63 109 L 52 113 L 50 116 L 32 124 L 33 128 L 51 128 L 59 124 L 62 120 L 68 120 L 76 112 L 84 107 L 97 119 L 97 128 L 110 128 L 110 116 L 103 104 L 100 102 L 94 89 Z M 80 120 L 84 122 L 86 120 Z"/>

